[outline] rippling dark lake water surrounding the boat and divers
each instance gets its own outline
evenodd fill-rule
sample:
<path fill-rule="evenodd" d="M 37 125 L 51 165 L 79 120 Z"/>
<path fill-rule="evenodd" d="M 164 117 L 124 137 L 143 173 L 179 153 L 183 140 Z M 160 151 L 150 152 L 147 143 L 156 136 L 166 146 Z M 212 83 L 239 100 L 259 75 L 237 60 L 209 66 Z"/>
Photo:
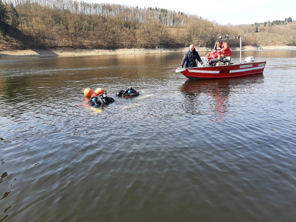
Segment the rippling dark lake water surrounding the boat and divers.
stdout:
<path fill-rule="evenodd" d="M 187 80 L 183 53 L 0 60 L 0 221 L 295 221 L 296 51 L 247 56 L 263 75 Z"/>

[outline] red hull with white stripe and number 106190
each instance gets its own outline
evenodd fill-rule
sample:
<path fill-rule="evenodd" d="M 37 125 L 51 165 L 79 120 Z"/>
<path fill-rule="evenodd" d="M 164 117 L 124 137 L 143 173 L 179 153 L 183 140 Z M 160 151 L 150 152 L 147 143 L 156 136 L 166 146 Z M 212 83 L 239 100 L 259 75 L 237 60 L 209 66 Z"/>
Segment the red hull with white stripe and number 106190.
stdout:
<path fill-rule="evenodd" d="M 179 68 L 176 73 L 182 73 L 188 79 L 222 79 L 261 74 L 266 62 L 252 62 L 222 66 L 207 66 L 193 68 Z"/>

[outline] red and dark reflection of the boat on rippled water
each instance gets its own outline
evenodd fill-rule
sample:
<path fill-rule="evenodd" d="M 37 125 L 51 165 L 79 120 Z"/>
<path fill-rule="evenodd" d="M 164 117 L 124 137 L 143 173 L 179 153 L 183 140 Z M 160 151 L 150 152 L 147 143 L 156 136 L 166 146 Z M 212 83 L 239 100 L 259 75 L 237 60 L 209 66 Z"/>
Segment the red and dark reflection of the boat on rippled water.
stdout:
<path fill-rule="evenodd" d="M 229 97 L 235 93 L 245 93 L 258 83 L 263 83 L 263 74 L 250 77 L 216 80 L 186 80 L 180 88 L 188 106 L 185 112 L 191 115 L 208 114 L 213 122 L 225 121 L 229 106 Z"/>

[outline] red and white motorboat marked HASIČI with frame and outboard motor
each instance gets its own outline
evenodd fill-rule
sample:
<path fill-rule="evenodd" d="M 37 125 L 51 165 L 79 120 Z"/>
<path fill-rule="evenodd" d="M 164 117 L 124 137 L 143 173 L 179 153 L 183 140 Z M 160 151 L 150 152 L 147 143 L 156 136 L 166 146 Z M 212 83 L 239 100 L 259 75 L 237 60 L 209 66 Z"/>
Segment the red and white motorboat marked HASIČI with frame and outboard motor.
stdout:
<path fill-rule="evenodd" d="M 207 56 L 201 57 L 203 60 L 203 65 L 198 63 L 198 67 L 192 68 L 178 68 L 176 73 L 182 73 L 188 79 L 200 80 L 200 79 L 221 79 L 221 78 L 230 78 L 230 77 L 240 77 L 248 76 L 254 74 L 262 74 L 265 68 L 266 61 L 263 62 L 254 62 L 254 57 L 246 57 L 245 62 L 242 63 L 242 39 L 240 36 L 236 38 L 221 39 L 230 40 L 230 39 L 239 39 L 240 40 L 240 63 L 230 63 L 226 65 L 223 60 L 212 59 L 215 63 L 220 63 L 220 65 L 211 66 L 209 64 Z M 216 44 L 215 44 L 216 47 Z M 214 49 L 215 49 L 214 47 Z M 229 61 L 229 60 L 228 60 Z"/>

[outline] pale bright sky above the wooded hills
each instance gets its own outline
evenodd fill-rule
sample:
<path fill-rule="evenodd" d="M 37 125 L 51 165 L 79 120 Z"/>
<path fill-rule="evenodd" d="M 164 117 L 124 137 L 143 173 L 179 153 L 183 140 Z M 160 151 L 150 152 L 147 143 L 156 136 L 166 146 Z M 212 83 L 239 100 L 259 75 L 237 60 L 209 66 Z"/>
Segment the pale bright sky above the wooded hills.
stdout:
<path fill-rule="evenodd" d="M 82 0 L 92 3 L 110 3 L 139 8 L 166 8 L 189 15 L 198 15 L 203 19 L 215 21 L 218 24 L 254 24 L 274 20 L 284 20 L 291 17 L 296 20 L 295 0 L 227 0 L 227 1 L 160 1 L 160 0 Z M 124 3 L 123 3 L 124 2 Z M 182 4 L 183 3 L 183 4 Z M 190 6 L 189 6 L 190 5 Z"/>

